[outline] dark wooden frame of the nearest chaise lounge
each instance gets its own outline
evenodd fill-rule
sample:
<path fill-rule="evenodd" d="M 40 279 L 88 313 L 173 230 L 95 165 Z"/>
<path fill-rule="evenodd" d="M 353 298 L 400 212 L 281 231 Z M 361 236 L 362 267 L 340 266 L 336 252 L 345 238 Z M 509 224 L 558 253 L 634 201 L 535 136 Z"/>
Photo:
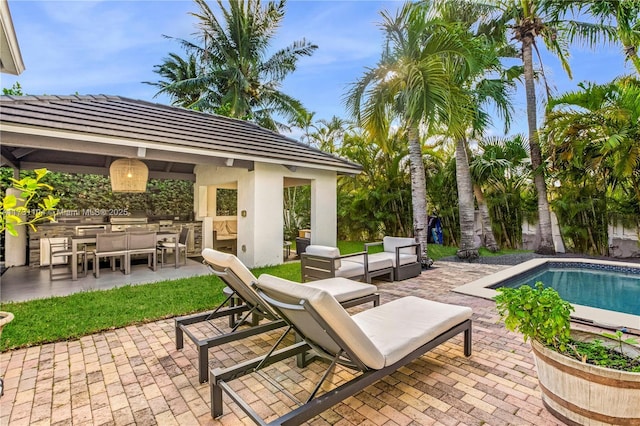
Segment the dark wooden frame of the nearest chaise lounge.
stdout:
<path fill-rule="evenodd" d="M 378 380 L 388 376 L 395 372 L 400 367 L 407 365 L 413 360 L 421 357 L 426 352 L 437 347 L 438 345 L 446 342 L 459 333 L 464 333 L 464 355 L 471 356 L 471 335 L 472 335 L 472 321 L 467 319 L 461 323 L 451 327 L 449 330 L 441 333 L 437 337 L 431 339 L 429 342 L 413 350 L 409 354 L 405 355 L 399 361 L 383 367 L 381 369 L 368 368 L 350 349 L 347 342 L 334 332 L 332 327 L 327 324 L 321 315 L 305 300 L 302 300 L 299 304 L 287 304 L 278 300 L 272 299 L 261 290 L 258 290 L 260 295 L 276 310 L 282 318 L 287 316 L 282 312 L 282 308 L 292 311 L 306 311 L 318 325 L 327 333 L 327 335 L 341 348 L 341 351 L 333 356 L 327 353 L 322 347 L 311 343 L 310 339 L 307 339 L 304 334 L 299 330 L 292 322 L 287 320 L 288 328 L 285 333 L 278 339 L 275 345 L 265 356 L 254 358 L 250 361 L 243 362 L 229 368 L 214 368 L 210 372 L 209 384 L 211 388 L 211 416 L 214 418 L 220 417 L 223 414 L 222 394 L 226 393 L 239 407 L 244 411 L 256 424 L 258 425 L 299 425 L 312 417 L 322 413 L 329 409 L 338 402 L 344 401 L 349 396 L 356 394 L 363 390 L 367 386 L 377 382 Z M 294 345 L 288 346 L 284 349 L 276 350 L 277 346 L 282 342 L 285 335 L 294 330 L 298 336 L 301 336 L 302 341 Z M 314 349 L 315 352 L 330 360 L 330 365 L 325 371 L 324 375 L 320 379 L 320 382 L 316 385 L 315 389 L 311 392 L 309 399 L 301 404 L 293 411 L 266 423 L 249 404 L 247 404 L 242 397 L 234 391 L 228 381 L 241 377 L 245 374 L 258 371 L 263 367 L 271 365 L 275 362 L 290 358 L 292 356 L 300 356 L 300 354 L 306 351 Z M 336 389 L 330 390 L 320 396 L 316 396 L 320 386 L 324 380 L 329 376 L 329 373 L 337 365 L 344 365 L 346 367 L 361 371 L 362 374 L 350 380 Z"/>

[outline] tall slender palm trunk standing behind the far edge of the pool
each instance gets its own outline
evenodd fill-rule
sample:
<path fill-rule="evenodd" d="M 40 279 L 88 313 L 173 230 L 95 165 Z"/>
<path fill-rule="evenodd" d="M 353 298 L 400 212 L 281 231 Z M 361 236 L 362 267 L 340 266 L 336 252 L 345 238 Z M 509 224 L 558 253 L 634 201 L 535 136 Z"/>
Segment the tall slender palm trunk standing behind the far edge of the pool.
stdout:
<path fill-rule="evenodd" d="M 540 234 L 536 238 L 538 246 L 535 252 L 539 254 L 555 254 L 553 235 L 551 232 L 551 214 L 547 200 L 547 186 L 544 181 L 544 167 L 538 139 L 538 123 L 536 117 L 536 92 L 533 77 L 532 57 L 533 36 L 526 35 L 522 39 L 522 62 L 524 65 L 524 86 L 527 94 L 527 122 L 529 125 L 529 149 L 531 153 L 531 167 L 533 180 L 538 193 L 538 228 Z"/>

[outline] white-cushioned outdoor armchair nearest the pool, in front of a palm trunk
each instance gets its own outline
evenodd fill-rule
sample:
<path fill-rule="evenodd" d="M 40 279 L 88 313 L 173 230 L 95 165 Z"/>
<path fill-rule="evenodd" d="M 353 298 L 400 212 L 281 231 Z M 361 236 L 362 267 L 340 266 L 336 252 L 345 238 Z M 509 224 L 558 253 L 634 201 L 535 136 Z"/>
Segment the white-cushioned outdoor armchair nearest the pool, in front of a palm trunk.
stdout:
<path fill-rule="evenodd" d="M 369 248 L 382 245 L 380 253 L 369 253 Z M 406 280 L 420 275 L 420 243 L 413 238 L 384 237 L 382 241 L 365 243 L 365 250 L 370 261 L 388 259 L 393 264 L 393 274 L 396 281 Z"/>

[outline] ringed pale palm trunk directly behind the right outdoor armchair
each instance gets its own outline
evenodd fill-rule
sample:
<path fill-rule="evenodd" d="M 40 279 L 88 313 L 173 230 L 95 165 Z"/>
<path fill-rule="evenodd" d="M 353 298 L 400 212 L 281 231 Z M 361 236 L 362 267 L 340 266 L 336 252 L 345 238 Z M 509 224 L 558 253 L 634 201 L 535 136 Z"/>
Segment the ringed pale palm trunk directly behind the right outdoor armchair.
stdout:
<path fill-rule="evenodd" d="M 413 230 L 421 245 L 422 264 L 431 266 L 433 261 L 427 254 L 427 230 L 429 215 L 427 214 L 427 183 L 422 162 L 422 143 L 418 127 L 409 126 L 409 168 L 411 171 L 411 203 L 413 207 Z"/>

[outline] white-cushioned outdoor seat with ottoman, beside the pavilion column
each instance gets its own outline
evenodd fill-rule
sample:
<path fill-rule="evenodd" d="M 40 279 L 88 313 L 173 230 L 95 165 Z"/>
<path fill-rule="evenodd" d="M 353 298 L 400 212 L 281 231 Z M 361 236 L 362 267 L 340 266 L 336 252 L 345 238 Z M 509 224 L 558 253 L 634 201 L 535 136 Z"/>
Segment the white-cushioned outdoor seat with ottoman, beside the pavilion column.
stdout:
<path fill-rule="evenodd" d="M 371 258 L 367 252 L 341 255 L 337 247 L 307 246 L 300 255 L 302 282 L 331 277 L 345 277 L 371 283 L 373 277 L 388 275 L 393 281 L 390 259 Z"/>

